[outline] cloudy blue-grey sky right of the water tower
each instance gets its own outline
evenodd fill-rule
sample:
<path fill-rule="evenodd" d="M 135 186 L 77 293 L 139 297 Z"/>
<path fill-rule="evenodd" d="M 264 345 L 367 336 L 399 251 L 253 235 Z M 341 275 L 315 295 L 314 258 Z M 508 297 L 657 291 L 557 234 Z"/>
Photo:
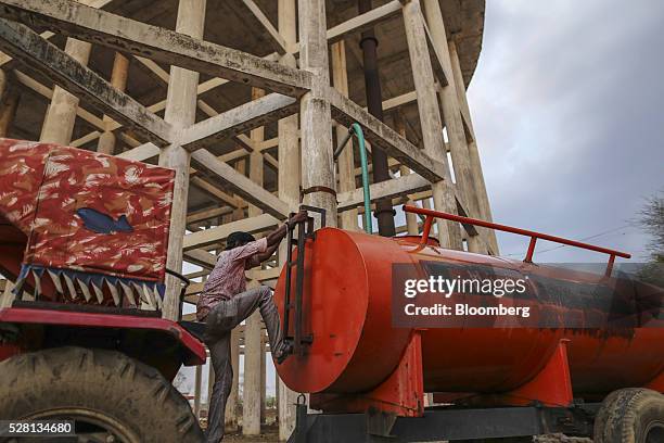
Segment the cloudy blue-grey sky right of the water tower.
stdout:
<path fill-rule="evenodd" d="M 663 46 L 659 0 L 487 0 L 468 93 L 495 221 L 647 257 L 633 220 L 664 192 Z M 535 260 L 605 260 L 553 246 Z"/>

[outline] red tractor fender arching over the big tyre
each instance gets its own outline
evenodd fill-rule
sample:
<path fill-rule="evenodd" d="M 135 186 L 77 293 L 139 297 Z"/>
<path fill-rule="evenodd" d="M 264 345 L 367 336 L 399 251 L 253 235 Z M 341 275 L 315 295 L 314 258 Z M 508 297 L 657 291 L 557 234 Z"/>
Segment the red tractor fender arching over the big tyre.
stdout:
<path fill-rule="evenodd" d="M 175 378 L 181 365 L 202 365 L 206 360 L 203 343 L 176 321 L 124 315 L 112 308 L 108 311 L 113 313 L 107 314 L 72 309 L 76 305 L 67 307 L 0 309 L 0 360 L 59 346 L 105 349 L 150 365 L 168 380 Z"/>

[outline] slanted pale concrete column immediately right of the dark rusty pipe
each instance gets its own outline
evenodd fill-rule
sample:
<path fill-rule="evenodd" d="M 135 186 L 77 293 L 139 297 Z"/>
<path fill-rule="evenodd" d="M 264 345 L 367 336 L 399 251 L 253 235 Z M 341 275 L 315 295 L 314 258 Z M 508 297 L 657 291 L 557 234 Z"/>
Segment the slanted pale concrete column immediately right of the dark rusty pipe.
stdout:
<path fill-rule="evenodd" d="M 438 111 L 433 68 L 419 0 L 411 0 L 404 5 L 404 22 L 412 76 L 418 93 L 418 111 L 422 126 L 424 152 L 432 159 L 447 164 L 445 141 L 443 140 L 443 122 Z M 457 202 L 448 168 L 445 179 L 432 185 L 432 193 L 436 210 L 451 214 L 457 213 Z M 461 231 L 458 224 L 438 219 L 437 226 L 438 239 L 443 248 L 462 250 Z"/>

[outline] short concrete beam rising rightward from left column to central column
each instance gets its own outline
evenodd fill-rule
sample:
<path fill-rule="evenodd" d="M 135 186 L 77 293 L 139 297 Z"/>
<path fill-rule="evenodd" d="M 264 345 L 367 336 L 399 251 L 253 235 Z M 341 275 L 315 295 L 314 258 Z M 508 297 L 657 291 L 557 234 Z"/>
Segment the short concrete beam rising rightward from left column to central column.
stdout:
<path fill-rule="evenodd" d="M 292 115 L 297 107 L 296 99 L 271 93 L 184 129 L 181 143 L 192 152 Z"/>

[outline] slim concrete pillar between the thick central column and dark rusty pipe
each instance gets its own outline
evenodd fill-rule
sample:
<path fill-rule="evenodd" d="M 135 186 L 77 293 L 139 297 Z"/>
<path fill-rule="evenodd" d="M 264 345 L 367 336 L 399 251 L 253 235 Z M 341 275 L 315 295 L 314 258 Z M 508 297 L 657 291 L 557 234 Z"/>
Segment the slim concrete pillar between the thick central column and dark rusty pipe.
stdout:
<path fill-rule="evenodd" d="M 344 40 L 332 45 L 332 84 L 343 96 L 348 97 L 348 73 L 346 71 L 346 45 Z M 348 128 L 336 125 L 336 143 L 348 134 Z M 339 191 L 355 190 L 355 162 L 353 161 L 353 140 L 336 161 L 339 168 Z M 341 227 L 349 230 L 360 230 L 357 224 L 357 210 L 344 211 L 341 216 Z"/>

